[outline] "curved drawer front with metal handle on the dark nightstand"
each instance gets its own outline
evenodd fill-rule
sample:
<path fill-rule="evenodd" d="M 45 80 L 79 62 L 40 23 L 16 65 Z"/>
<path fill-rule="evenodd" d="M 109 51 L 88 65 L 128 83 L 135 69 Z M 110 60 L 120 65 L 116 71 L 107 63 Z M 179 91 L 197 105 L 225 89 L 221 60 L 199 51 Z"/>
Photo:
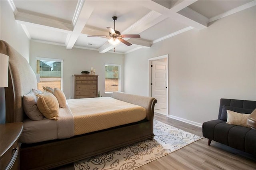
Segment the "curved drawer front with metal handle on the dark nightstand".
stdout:
<path fill-rule="evenodd" d="M 1 156 L 1 164 L 0 169 L 4 170 L 5 168 L 10 168 L 12 166 L 18 156 L 19 145 L 18 141 L 14 142 L 14 144 Z"/>

